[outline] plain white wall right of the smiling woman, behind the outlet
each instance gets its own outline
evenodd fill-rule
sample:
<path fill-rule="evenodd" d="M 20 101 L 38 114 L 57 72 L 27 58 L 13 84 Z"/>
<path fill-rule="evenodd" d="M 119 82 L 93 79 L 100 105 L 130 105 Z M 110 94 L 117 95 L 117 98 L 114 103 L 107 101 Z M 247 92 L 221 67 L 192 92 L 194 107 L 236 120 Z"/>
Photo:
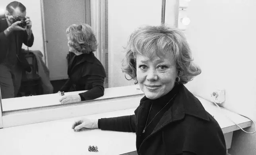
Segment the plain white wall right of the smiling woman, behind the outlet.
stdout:
<path fill-rule="evenodd" d="M 255 6 L 255 0 L 191 0 L 188 8 L 191 23 L 185 31 L 195 61 L 202 68 L 202 74 L 186 87 L 206 98 L 215 88 L 224 88 L 225 106 L 254 121 Z M 255 134 L 237 131 L 230 153 L 255 155 L 255 146 Z"/>

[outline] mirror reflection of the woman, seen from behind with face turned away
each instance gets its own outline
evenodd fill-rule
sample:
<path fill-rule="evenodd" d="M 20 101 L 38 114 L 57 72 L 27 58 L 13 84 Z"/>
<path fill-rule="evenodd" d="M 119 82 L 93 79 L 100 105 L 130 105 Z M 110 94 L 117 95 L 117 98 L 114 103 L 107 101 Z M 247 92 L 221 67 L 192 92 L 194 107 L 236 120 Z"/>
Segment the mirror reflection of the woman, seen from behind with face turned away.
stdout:
<path fill-rule="evenodd" d="M 91 26 L 71 25 L 66 33 L 69 51 L 74 55 L 68 65 L 69 79 L 60 91 L 88 91 L 78 95 L 63 96 L 60 102 L 65 104 L 103 96 L 106 74 L 103 65 L 93 54 L 98 45 Z"/>

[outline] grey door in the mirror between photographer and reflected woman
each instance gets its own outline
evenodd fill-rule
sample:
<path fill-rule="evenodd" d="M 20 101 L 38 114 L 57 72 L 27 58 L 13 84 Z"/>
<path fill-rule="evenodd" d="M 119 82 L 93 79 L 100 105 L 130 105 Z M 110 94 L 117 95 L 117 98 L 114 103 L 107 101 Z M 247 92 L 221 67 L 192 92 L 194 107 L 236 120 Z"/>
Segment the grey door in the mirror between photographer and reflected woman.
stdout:
<path fill-rule="evenodd" d="M 50 80 L 67 79 L 66 29 L 85 23 L 85 0 L 43 0 L 46 62 Z"/>

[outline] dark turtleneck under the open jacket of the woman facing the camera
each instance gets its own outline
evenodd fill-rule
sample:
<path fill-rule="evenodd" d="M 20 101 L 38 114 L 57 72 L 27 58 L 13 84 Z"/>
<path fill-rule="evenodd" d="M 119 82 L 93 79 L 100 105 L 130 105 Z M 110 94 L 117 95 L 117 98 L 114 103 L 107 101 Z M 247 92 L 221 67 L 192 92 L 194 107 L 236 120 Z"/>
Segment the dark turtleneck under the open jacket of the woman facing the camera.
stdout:
<path fill-rule="evenodd" d="M 149 136 L 153 130 L 155 129 L 155 127 L 157 126 L 157 123 L 160 121 L 160 119 L 163 117 L 164 113 L 167 112 L 167 110 L 169 110 L 173 104 L 173 100 L 174 100 L 174 96 L 177 93 L 177 89 L 178 89 L 179 85 L 175 85 L 173 87 L 173 89 L 171 91 L 169 91 L 169 93 L 167 93 L 164 96 L 161 96 L 160 98 L 157 98 L 155 100 L 150 100 L 150 99 L 146 99 L 147 101 L 144 104 L 149 104 L 147 105 L 148 110 L 150 109 L 150 106 L 152 104 L 152 108 L 150 110 L 149 113 L 147 113 L 148 115 L 148 121 L 147 119 L 145 121 L 147 121 L 147 125 L 152 121 L 153 121 L 147 126 L 145 133 L 142 134 L 143 138 L 145 139 L 147 136 Z M 171 100 L 171 98 L 173 98 Z M 171 100 L 171 101 L 170 101 Z M 170 101 L 170 102 L 169 102 Z M 169 103 L 168 103 L 169 102 Z M 168 103 L 168 104 L 167 104 Z M 167 104 L 167 105 L 166 105 Z M 166 106 L 165 106 L 166 105 Z M 165 108 L 163 108 L 165 106 Z M 163 108 L 163 110 L 161 110 Z M 161 112 L 160 112 L 161 110 Z M 159 113 L 158 113 L 159 112 Z M 157 114 L 158 113 L 158 114 Z M 156 115 L 157 114 L 157 115 Z M 146 116 L 147 118 L 147 116 Z"/>

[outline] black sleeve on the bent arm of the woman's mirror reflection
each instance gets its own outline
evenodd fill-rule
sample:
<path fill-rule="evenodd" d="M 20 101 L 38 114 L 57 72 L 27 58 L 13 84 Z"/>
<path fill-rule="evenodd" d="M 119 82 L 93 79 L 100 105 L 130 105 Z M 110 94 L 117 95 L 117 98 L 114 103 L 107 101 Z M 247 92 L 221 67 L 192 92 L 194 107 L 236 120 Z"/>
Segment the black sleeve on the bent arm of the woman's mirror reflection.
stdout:
<path fill-rule="evenodd" d="M 80 93 L 81 100 L 93 100 L 104 95 L 104 77 L 101 76 L 90 76 L 87 79 L 88 83 L 92 84 L 92 89 Z"/>

